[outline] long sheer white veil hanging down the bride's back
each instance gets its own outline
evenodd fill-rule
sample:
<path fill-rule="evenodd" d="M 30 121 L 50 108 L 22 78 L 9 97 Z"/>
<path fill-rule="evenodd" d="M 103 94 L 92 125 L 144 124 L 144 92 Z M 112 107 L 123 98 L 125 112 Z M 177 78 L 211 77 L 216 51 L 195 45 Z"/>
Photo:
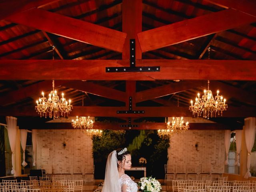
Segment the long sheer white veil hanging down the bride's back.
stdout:
<path fill-rule="evenodd" d="M 116 150 L 108 155 L 102 192 L 121 192 L 117 170 Z"/>

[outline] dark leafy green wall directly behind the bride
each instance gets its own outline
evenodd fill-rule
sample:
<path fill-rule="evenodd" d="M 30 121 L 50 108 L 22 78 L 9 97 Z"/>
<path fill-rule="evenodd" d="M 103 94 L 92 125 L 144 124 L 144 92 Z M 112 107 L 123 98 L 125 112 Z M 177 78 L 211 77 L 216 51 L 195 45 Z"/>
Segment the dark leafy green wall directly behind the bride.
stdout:
<path fill-rule="evenodd" d="M 132 155 L 132 166 L 142 166 L 139 158 L 147 160 L 147 176 L 164 178 L 164 164 L 167 163 L 168 138 L 161 139 L 157 130 L 104 130 L 102 137 L 93 138 L 95 179 L 104 179 L 108 154 L 118 148 L 127 147 Z M 127 172 L 135 176 L 135 172 Z M 131 175 L 132 174 L 132 175 Z M 139 179 L 135 176 L 136 179 Z"/>

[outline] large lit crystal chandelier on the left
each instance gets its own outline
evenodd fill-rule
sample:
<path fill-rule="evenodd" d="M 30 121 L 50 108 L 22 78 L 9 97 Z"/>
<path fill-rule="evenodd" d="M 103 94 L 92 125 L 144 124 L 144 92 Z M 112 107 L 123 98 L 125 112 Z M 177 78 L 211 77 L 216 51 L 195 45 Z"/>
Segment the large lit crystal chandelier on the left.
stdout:
<path fill-rule="evenodd" d="M 71 100 L 68 101 L 64 98 L 64 93 L 62 92 L 62 98 L 60 99 L 57 91 L 54 90 L 54 80 L 52 80 L 52 91 L 49 94 L 48 99 L 44 96 L 42 91 L 42 97 L 36 100 L 36 112 L 40 114 L 40 117 L 49 116 L 49 118 L 55 119 L 61 116 L 68 116 L 73 106 L 70 104 Z"/>

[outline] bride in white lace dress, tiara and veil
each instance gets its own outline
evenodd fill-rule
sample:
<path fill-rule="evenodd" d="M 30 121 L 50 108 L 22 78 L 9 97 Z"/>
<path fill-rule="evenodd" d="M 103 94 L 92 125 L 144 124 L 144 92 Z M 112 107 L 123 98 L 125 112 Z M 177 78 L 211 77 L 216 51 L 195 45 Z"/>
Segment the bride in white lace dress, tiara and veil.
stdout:
<path fill-rule="evenodd" d="M 112 151 L 106 163 L 102 192 L 137 192 L 137 184 L 124 173 L 132 166 L 132 158 L 127 148 Z"/>

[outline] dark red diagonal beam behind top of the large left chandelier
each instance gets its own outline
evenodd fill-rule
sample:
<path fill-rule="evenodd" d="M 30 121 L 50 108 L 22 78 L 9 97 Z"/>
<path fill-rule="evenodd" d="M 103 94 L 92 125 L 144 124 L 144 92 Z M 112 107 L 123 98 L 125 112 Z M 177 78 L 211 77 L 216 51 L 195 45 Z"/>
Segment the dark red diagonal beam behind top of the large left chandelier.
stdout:
<path fill-rule="evenodd" d="M 59 87 L 66 81 L 57 80 L 54 82 L 55 87 Z M 30 86 L 20 88 L 15 91 L 8 92 L 0 97 L 0 106 L 5 106 L 10 103 L 18 102 L 24 98 L 32 97 L 41 94 L 42 91 L 52 90 L 52 81 L 42 81 Z"/>

